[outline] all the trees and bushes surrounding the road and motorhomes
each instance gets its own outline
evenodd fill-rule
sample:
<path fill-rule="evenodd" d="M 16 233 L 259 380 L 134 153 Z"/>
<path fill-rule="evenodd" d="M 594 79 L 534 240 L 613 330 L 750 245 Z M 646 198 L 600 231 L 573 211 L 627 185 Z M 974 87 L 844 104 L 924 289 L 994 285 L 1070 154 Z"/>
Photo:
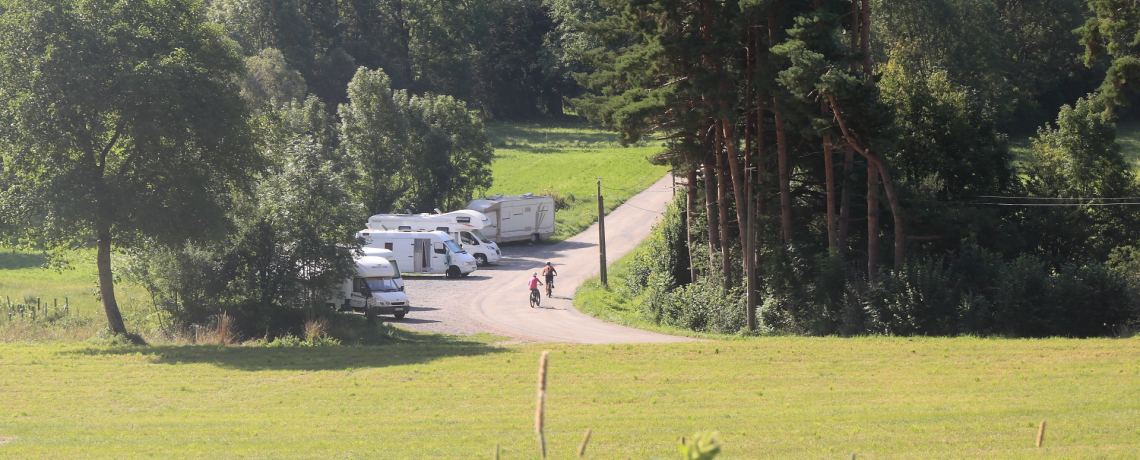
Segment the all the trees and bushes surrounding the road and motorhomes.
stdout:
<path fill-rule="evenodd" d="M 352 222 L 490 186 L 484 121 L 584 116 L 686 179 L 627 287 L 659 321 L 1107 335 L 1140 305 L 1138 28 L 1127 0 L 0 0 L 0 231 L 97 247 L 117 332 L 116 277 L 286 331 Z"/>

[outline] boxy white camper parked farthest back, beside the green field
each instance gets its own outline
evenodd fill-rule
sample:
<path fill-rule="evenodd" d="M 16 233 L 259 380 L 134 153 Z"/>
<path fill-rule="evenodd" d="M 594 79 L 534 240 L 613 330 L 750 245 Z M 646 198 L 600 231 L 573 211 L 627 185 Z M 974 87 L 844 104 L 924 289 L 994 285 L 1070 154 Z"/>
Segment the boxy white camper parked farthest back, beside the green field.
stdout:
<path fill-rule="evenodd" d="M 496 243 L 538 241 L 554 236 L 554 198 L 549 196 L 495 195 L 473 199 L 467 208 L 487 215 L 483 235 Z"/>

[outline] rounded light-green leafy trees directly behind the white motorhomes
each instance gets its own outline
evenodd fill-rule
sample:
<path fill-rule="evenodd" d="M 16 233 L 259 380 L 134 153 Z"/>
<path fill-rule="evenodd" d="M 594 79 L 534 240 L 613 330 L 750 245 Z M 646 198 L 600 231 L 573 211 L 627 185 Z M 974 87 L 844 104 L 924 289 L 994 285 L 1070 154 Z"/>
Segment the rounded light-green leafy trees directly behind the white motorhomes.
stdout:
<path fill-rule="evenodd" d="M 372 213 L 450 210 L 491 184 L 482 122 L 448 96 L 392 90 L 382 71 L 360 68 L 341 105 L 353 192 Z"/>

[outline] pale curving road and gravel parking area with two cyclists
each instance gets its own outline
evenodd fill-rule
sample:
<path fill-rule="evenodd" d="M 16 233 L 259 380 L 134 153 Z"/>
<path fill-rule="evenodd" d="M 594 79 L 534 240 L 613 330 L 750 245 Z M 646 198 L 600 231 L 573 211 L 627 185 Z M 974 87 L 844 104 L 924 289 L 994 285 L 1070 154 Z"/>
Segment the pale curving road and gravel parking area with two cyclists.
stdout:
<path fill-rule="evenodd" d="M 667 175 L 605 216 L 606 262 L 612 263 L 649 236 L 673 197 Z M 467 278 L 407 277 L 413 307 L 397 320 L 410 329 L 447 334 L 492 332 L 523 340 L 584 344 L 691 340 L 609 323 L 571 306 L 570 297 L 598 272 L 597 224 L 555 245 L 508 246 L 498 264 Z M 552 262 L 559 271 L 554 298 L 531 309 L 527 280 Z"/>

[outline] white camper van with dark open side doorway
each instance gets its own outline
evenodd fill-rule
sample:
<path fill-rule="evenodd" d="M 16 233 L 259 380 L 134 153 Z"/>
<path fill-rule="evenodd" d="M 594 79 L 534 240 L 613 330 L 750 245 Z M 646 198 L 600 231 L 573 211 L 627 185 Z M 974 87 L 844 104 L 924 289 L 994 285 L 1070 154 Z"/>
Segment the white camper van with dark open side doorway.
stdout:
<path fill-rule="evenodd" d="M 442 231 L 391 231 L 364 229 L 357 232 L 364 246 L 392 252 L 392 261 L 405 273 L 447 274 L 466 277 L 475 271 L 475 258 L 469 255 Z"/>

